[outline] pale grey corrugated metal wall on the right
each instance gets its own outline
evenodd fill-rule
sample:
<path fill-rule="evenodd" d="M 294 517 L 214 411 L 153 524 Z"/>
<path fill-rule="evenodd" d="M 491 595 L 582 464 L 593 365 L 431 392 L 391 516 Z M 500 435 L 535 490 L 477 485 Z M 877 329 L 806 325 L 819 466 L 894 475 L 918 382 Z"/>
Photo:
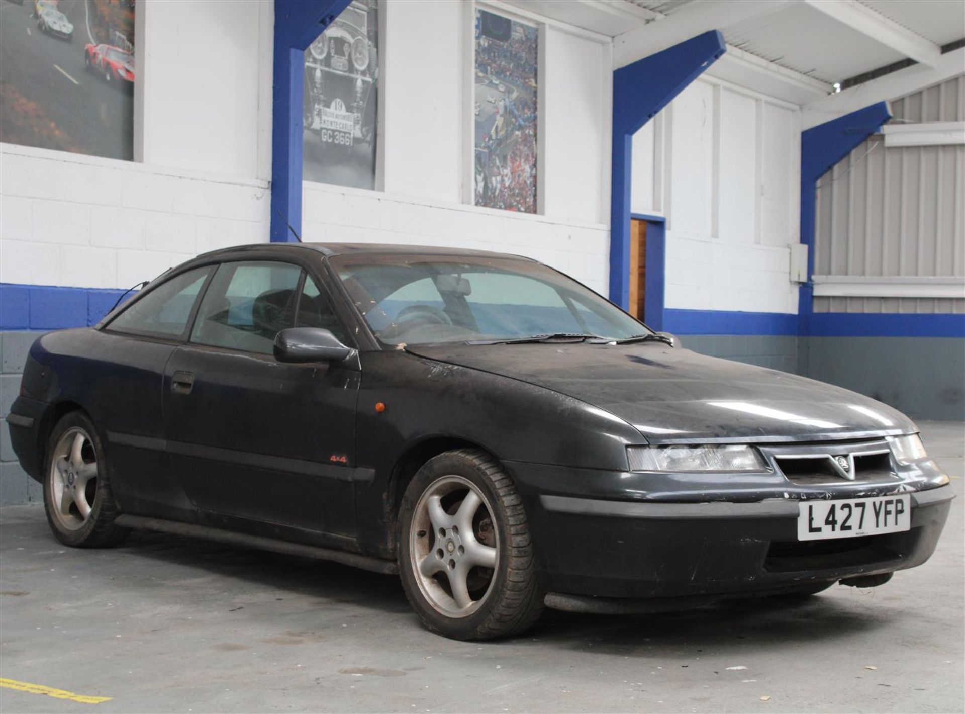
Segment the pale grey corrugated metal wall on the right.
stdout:
<path fill-rule="evenodd" d="M 965 74 L 891 102 L 894 122 L 965 120 Z M 965 146 L 872 136 L 818 181 L 816 275 L 965 275 Z M 965 298 L 815 297 L 814 312 L 959 313 Z"/>

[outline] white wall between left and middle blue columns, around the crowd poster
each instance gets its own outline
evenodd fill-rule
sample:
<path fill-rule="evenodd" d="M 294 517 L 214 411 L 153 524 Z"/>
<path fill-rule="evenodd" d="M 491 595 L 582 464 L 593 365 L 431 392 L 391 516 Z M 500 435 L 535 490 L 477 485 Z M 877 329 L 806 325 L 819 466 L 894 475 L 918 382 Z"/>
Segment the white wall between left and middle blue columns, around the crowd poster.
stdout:
<path fill-rule="evenodd" d="M 472 5 L 409 0 L 383 9 L 385 192 L 306 181 L 303 239 L 515 253 L 606 294 L 609 46 L 555 27 L 541 35 L 547 59 L 539 111 L 552 117 L 538 139 L 544 215 L 521 215 L 461 203 L 472 180 L 472 101 L 464 84 L 473 74 L 466 46 Z"/>

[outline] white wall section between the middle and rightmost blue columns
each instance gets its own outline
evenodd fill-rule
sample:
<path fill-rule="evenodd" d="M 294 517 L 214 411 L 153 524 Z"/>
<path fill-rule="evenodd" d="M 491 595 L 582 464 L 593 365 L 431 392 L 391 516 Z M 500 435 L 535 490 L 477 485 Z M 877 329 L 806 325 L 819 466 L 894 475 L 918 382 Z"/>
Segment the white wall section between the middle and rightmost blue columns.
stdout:
<path fill-rule="evenodd" d="M 632 210 L 667 216 L 666 306 L 797 312 L 800 111 L 702 77 L 634 136 Z"/>

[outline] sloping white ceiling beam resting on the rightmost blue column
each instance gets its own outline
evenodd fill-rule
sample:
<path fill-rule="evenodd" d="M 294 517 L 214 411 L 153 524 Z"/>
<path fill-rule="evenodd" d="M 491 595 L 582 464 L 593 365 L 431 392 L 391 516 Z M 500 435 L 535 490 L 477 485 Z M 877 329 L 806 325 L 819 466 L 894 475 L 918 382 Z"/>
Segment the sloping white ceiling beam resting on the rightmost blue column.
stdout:
<path fill-rule="evenodd" d="M 962 73 L 965 47 L 946 52 L 934 67 L 912 65 L 855 85 L 836 95 L 825 96 L 801 107 L 803 128 L 824 124 L 878 101 L 891 101 L 944 82 Z"/>

